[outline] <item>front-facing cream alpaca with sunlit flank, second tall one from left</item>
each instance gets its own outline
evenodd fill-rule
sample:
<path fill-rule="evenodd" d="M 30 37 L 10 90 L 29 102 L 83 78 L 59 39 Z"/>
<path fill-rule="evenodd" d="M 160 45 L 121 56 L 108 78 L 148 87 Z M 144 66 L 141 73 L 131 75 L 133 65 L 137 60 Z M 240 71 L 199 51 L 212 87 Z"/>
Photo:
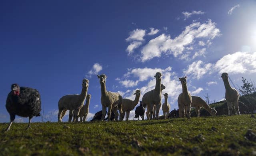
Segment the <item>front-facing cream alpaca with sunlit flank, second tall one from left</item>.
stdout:
<path fill-rule="evenodd" d="M 110 121 L 111 110 L 113 109 L 115 113 L 115 120 L 118 120 L 118 111 L 120 112 L 120 118 L 122 117 L 122 96 L 119 93 L 113 93 L 106 90 L 106 78 L 105 74 L 97 75 L 100 79 L 100 88 L 101 88 L 101 105 L 102 105 L 102 117 L 101 120 L 105 117 L 106 108 L 108 107 L 108 121 Z"/>

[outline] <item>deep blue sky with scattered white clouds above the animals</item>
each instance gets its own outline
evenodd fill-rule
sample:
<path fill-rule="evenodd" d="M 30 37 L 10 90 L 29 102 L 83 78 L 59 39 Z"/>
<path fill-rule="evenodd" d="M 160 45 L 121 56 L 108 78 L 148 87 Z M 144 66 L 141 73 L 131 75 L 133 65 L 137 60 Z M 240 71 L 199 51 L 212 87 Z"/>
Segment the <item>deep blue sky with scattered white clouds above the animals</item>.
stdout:
<path fill-rule="evenodd" d="M 44 115 L 57 121 L 58 100 L 79 94 L 84 78 L 90 116 L 102 109 L 97 73 L 107 75 L 108 91 L 134 99 L 136 89 L 142 98 L 154 88 L 160 71 L 171 110 L 178 77 L 187 75 L 190 93 L 211 101 L 224 98 L 222 72 L 238 86 L 242 77 L 256 81 L 255 0 L 0 3 L 0 122 L 9 122 L 12 83 L 38 89 Z"/>

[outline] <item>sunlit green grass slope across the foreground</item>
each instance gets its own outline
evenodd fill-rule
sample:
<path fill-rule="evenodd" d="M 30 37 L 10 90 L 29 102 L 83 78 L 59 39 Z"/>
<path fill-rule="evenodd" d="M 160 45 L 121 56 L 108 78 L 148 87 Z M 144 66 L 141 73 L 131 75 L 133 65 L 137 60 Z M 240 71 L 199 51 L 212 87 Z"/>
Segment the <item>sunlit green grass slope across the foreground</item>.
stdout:
<path fill-rule="evenodd" d="M 4 130 L 8 123 L 0 124 Z M 0 134 L 0 155 L 253 155 L 256 118 L 174 118 L 124 122 L 14 123 Z M 64 128 L 69 126 L 70 128 Z M 214 127 L 214 128 L 212 128 Z M 215 129 L 216 128 L 216 129 Z"/>

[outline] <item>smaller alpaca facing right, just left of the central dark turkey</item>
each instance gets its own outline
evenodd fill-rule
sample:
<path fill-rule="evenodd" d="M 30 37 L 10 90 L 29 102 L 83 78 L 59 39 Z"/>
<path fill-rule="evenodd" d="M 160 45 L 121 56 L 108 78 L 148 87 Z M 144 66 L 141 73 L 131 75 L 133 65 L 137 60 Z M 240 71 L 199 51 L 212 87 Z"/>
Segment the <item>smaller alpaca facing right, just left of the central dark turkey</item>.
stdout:
<path fill-rule="evenodd" d="M 134 109 L 134 107 L 138 104 L 139 99 L 140 99 L 140 90 L 136 90 L 133 95 L 135 96 L 134 101 L 130 99 L 123 99 L 122 105 L 123 105 L 123 115 L 121 118 L 121 121 L 124 119 L 124 114 L 126 112 L 126 121 L 129 119 L 130 111 Z"/>

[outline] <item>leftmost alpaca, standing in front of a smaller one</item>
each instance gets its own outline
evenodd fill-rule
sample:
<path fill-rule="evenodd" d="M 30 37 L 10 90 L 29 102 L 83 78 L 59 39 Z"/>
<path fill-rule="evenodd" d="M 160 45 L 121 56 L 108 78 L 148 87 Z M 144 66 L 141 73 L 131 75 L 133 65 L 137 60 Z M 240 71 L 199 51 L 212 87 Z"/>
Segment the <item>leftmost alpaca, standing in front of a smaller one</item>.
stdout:
<path fill-rule="evenodd" d="M 60 98 L 58 102 L 58 107 L 59 107 L 58 122 L 62 121 L 62 118 L 64 117 L 67 110 L 69 110 L 68 122 L 71 122 L 74 110 L 76 110 L 76 113 L 74 114 L 74 118 L 77 118 L 80 108 L 84 105 L 88 87 L 89 87 L 89 80 L 83 79 L 82 91 L 79 95 L 78 94 L 65 95 L 62 98 Z"/>

